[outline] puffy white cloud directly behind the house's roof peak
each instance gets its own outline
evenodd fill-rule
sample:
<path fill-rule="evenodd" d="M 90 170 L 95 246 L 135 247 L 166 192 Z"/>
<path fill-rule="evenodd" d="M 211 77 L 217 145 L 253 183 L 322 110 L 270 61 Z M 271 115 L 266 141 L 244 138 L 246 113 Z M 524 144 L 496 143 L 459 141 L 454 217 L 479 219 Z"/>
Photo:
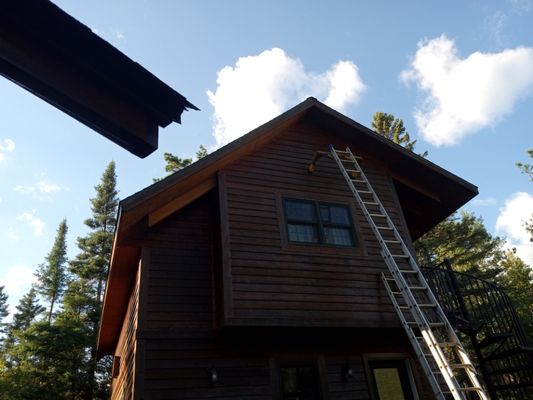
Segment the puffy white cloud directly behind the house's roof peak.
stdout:
<path fill-rule="evenodd" d="M 207 91 L 214 107 L 214 136 L 222 146 L 314 96 L 345 111 L 357 104 L 365 85 L 357 65 L 339 61 L 328 71 L 306 72 L 302 62 L 279 48 L 241 57 L 235 66 L 218 71 L 215 92 Z"/>

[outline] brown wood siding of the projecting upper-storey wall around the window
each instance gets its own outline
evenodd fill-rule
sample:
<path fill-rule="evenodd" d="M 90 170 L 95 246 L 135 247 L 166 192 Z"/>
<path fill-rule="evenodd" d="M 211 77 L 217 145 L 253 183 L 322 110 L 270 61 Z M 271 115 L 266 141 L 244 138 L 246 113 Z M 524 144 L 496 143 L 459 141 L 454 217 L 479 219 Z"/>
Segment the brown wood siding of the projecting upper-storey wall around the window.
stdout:
<path fill-rule="evenodd" d="M 380 247 L 338 167 L 323 157 L 316 172 L 307 172 L 329 140 L 313 126 L 296 125 L 221 173 L 222 236 L 228 242 L 225 325 L 399 326 L 378 278 L 386 270 Z M 387 171 L 365 158 L 364 149 L 352 151 L 363 156 L 374 190 L 399 230 L 407 232 Z M 351 205 L 359 246 L 288 243 L 286 197 Z"/>

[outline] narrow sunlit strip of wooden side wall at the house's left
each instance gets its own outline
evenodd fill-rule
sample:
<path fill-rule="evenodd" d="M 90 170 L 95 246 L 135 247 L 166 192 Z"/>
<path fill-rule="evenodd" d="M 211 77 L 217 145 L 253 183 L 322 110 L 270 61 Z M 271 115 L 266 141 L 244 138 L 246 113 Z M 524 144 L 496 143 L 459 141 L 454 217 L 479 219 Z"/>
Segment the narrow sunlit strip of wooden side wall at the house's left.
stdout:
<path fill-rule="evenodd" d="M 136 284 L 130 296 L 128 311 L 114 354 L 115 357 L 120 357 L 120 367 L 118 377 L 113 379 L 112 400 L 133 398 L 134 373 L 136 368 L 135 340 L 139 309 L 139 279 L 136 279 L 135 282 Z"/>

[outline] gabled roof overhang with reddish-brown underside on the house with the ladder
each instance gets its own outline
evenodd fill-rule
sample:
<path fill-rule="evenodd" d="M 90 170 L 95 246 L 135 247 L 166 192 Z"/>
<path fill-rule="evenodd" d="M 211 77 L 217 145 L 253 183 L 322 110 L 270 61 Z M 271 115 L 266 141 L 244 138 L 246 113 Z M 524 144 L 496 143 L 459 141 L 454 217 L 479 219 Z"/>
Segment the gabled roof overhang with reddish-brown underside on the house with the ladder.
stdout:
<path fill-rule="evenodd" d="M 391 171 L 411 236 L 418 238 L 477 194 L 477 188 L 432 162 L 309 98 L 189 167 L 120 203 L 100 325 L 98 353 L 113 351 L 135 278 L 136 238 L 217 185 L 217 172 L 286 132 L 299 121 L 341 136 Z M 357 148 L 352 148 L 357 152 Z M 309 160 L 311 161 L 311 160 Z M 425 213 L 416 210 L 425 210 Z M 431 212 L 429 212 L 431 211 Z"/>

